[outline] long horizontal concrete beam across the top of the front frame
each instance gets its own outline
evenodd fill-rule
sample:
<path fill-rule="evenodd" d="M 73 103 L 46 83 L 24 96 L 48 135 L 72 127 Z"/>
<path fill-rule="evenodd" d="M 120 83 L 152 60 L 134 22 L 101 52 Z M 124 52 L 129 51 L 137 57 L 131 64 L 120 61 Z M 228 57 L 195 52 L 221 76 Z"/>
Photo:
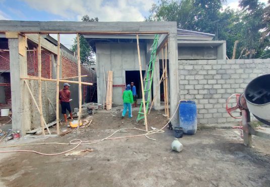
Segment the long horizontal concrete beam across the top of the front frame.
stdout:
<path fill-rule="evenodd" d="M 22 33 L 168 33 L 176 22 L 71 22 L 71 21 L 7 21 L 0 20 L 0 32 Z"/>

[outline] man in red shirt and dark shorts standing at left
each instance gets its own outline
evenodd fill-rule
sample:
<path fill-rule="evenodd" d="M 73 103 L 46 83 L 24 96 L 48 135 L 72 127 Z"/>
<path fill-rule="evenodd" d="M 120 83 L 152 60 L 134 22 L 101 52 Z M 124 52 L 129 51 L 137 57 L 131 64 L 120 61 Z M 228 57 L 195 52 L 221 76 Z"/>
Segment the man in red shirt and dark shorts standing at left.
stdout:
<path fill-rule="evenodd" d="M 64 88 L 59 91 L 59 100 L 61 102 L 62 114 L 64 115 L 64 122 L 67 122 L 66 110 L 70 112 L 71 119 L 73 119 L 70 105 L 71 101 L 70 100 L 71 91 L 69 90 L 70 86 L 71 85 L 69 83 L 64 83 Z"/>

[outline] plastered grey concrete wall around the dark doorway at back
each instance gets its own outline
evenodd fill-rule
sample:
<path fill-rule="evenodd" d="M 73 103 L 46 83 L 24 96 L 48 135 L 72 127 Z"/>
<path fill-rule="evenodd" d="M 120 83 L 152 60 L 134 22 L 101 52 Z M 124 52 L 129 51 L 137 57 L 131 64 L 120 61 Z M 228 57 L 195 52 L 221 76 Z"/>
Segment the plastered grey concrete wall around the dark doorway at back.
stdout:
<path fill-rule="evenodd" d="M 105 79 L 107 79 L 107 71 L 112 70 L 113 84 L 125 84 L 125 71 L 139 70 L 137 43 L 97 43 L 96 49 L 98 103 L 103 104 L 103 67 L 105 70 Z M 145 49 L 145 43 L 140 43 L 143 70 L 146 69 Z M 121 87 L 113 87 L 112 102 L 113 105 L 122 105 Z"/>

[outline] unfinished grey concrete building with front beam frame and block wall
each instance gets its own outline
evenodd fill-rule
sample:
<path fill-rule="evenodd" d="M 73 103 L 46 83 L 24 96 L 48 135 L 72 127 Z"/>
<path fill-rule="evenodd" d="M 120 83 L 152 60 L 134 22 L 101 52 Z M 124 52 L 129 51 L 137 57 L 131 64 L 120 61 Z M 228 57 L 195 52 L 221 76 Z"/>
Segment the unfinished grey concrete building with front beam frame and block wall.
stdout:
<path fill-rule="evenodd" d="M 81 33 L 87 38 L 97 53 L 97 87 L 98 102 L 103 98 L 103 67 L 112 70 L 113 87 L 112 102 L 121 104 L 123 85 L 135 81 L 140 87 L 138 78 L 138 56 L 135 38 L 139 34 L 140 52 L 143 70 L 149 61 L 149 52 L 154 34 L 160 34 L 158 49 L 168 42 L 168 74 L 169 103 L 171 113 L 175 112 L 179 99 L 194 100 L 197 104 L 198 123 L 230 122 L 226 112 L 226 100 L 235 92 L 243 92 L 247 83 L 254 77 L 270 73 L 270 60 L 226 60 L 226 42 L 213 41 L 212 34 L 195 31 L 177 30 L 176 22 L 31 22 L 0 21 L 0 32 L 27 33 Z M 20 63 L 23 59 L 18 54 L 18 38 L 10 38 L 11 86 L 15 109 L 14 127 L 21 128 L 28 124 L 20 121 L 22 114 L 28 110 L 20 110 L 29 105 L 22 98 L 25 94 L 22 79 L 18 74 L 25 71 Z M 162 89 L 159 85 L 161 56 L 156 59 L 153 78 L 153 92 L 159 89 L 154 103 L 155 108 L 161 106 Z M 14 73 L 13 73 L 14 72 Z M 20 86 L 18 83 L 21 82 Z M 161 86 L 162 87 L 162 86 Z M 161 89 L 161 90 L 160 90 Z M 13 92 L 14 91 L 14 92 Z M 178 124 L 178 115 L 172 119 Z"/>

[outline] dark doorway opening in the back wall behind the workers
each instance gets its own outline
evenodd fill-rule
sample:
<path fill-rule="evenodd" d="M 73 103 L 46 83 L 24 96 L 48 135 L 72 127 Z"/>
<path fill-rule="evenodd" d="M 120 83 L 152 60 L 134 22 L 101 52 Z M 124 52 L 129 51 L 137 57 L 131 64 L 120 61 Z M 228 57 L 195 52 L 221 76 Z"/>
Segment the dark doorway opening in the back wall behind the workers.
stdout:
<path fill-rule="evenodd" d="M 145 71 L 142 71 L 143 77 Z M 140 78 L 140 71 L 125 71 L 125 83 L 130 84 L 130 82 L 134 82 L 136 86 L 138 99 L 142 99 L 142 86 L 141 86 L 141 78 Z"/>

